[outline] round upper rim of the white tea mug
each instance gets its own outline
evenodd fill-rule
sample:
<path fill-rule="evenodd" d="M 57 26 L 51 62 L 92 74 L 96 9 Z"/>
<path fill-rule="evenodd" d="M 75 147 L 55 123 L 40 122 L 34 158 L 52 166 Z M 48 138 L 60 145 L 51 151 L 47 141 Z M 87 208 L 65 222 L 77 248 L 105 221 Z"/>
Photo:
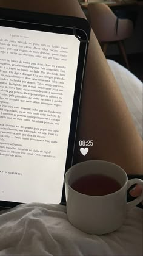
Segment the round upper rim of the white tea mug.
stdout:
<path fill-rule="evenodd" d="M 122 167 L 119 166 L 119 165 L 116 165 L 116 163 L 112 163 L 112 162 L 104 161 L 104 160 L 87 160 L 87 161 L 82 161 L 82 162 L 76 163 L 76 166 L 77 166 L 77 165 L 80 165 L 81 163 L 85 163 L 85 162 L 104 162 L 104 163 L 111 163 L 112 165 L 118 166 L 118 168 L 122 169 Z M 105 198 L 105 197 L 108 197 L 108 196 L 111 196 L 111 195 L 118 194 L 119 191 L 121 191 L 122 189 L 124 189 L 124 187 L 127 185 L 127 182 L 128 182 L 127 173 L 124 171 L 124 169 L 122 169 L 122 171 L 123 171 L 124 174 L 125 174 L 126 180 L 125 180 L 124 185 L 123 185 L 121 188 L 119 188 L 119 190 L 117 190 L 117 191 L 115 191 L 115 192 L 113 192 L 113 193 L 110 193 L 110 194 L 104 194 L 104 195 L 102 195 L 102 196 L 91 196 L 91 195 L 89 195 L 89 194 L 83 194 L 83 193 L 80 193 L 80 192 L 74 190 L 73 188 L 71 188 L 71 186 L 70 186 L 70 185 L 68 184 L 68 182 L 67 182 L 67 175 L 68 175 L 68 173 L 70 172 L 70 170 L 71 170 L 71 168 L 72 168 L 73 166 L 75 166 L 75 165 L 72 165 L 72 166 L 68 169 L 68 171 L 65 173 L 64 181 L 65 181 L 65 183 L 66 183 L 68 189 L 74 191 L 75 193 L 81 194 L 82 196 L 85 196 L 85 197 L 88 196 L 88 197 L 90 197 L 90 198 L 92 198 L 92 197 L 94 197 L 94 198 L 95 198 L 95 197 L 96 197 L 96 198 L 97 198 L 97 197 L 104 197 L 104 198 Z M 84 176 L 86 176 L 86 175 L 84 175 Z M 81 176 L 81 177 L 84 177 L 84 176 Z"/>

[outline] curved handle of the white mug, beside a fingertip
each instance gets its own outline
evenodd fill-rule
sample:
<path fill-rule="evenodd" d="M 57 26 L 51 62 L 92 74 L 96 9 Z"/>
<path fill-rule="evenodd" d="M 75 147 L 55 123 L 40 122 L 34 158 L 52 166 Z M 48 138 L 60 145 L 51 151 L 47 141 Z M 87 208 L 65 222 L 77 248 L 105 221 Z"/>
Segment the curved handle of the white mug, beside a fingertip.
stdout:
<path fill-rule="evenodd" d="M 142 193 L 135 200 L 127 203 L 127 210 L 131 210 L 131 208 L 135 207 L 137 204 L 143 201 L 143 180 L 137 179 L 137 178 L 128 180 L 127 190 L 128 188 L 131 187 L 131 185 L 134 185 L 134 184 L 142 185 Z"/>

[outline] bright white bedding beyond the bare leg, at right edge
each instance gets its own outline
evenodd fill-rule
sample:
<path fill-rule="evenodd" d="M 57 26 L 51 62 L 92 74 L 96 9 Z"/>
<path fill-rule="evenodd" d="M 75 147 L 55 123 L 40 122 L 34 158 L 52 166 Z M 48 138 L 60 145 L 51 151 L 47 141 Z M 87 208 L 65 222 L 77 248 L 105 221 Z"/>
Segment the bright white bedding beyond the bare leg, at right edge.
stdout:
<path fill-rule="evenodd" d="M 136 129 L 139 134 L 142 135 L 142 82 L 134 76 L 124 66 L 119 65 L 113 60 L 107 60 L 108 65 L 111 68 L 113 75 L 115 76 L 116 82 L 119 85 L 122 96 L 125 99 L 128 109 L 130 110 L 131 116 L 135 123 Z"/>

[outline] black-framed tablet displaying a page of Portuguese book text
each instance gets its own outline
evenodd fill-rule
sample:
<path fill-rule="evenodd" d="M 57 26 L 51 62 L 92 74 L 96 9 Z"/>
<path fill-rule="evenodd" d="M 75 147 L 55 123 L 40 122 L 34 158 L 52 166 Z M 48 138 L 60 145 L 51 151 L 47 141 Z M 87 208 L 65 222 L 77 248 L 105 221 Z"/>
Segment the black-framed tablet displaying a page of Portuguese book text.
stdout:
<path fill-rule="evenodd" d="M 0 206 L 65 201 L 90 26 L 0 9 Z"/>

